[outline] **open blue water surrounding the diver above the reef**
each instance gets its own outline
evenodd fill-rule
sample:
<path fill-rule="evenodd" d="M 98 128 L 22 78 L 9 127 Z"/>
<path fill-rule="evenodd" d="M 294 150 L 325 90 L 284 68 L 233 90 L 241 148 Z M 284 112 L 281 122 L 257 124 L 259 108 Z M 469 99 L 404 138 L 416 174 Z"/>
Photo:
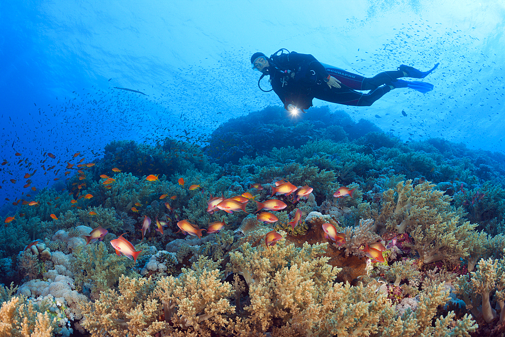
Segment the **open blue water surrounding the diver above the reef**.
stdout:
<path fill-rule="evenodd" d="M 365 76 L 440 62 L 427 94 L 329 106 L 403 140 L 502 152 L 504 23 L 502 1 L 2 1 L 0 203 L 22 197 L 25 173 L 51 186 L 75 153 L 90 162 L 113 139 L 205 144 L 229 118 L 280 105 L 249 57 L 281 47 Z M 45 152 L 59 175 L 42 175 Z"/>

